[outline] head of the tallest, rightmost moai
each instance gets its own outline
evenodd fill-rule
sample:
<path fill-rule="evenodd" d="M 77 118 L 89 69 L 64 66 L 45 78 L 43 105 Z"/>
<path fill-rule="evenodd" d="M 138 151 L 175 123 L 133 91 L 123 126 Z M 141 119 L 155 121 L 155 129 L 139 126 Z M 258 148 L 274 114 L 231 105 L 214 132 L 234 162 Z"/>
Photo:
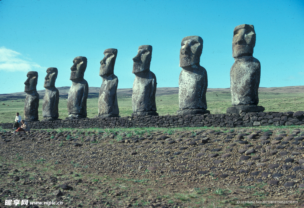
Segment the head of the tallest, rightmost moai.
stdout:
<path fill-rule="evenodd" d="M 252 56 L 255 46 L 255 31 L 253 25 L 238 25 L 233 30 L 232 57 Z"/>

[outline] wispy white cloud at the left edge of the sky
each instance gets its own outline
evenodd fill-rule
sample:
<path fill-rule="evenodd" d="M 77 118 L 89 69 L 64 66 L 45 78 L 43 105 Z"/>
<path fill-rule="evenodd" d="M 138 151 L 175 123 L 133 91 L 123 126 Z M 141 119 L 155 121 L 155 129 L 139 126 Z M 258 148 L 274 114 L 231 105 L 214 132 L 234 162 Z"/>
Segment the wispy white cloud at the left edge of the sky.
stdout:
<path fill-rule="evenodd" d="M 4 46 L 0 47 L 0 70 L 3 71 L 35 71 L 42 68 L 39 64 L 25 60 L 22 54 Z"/>

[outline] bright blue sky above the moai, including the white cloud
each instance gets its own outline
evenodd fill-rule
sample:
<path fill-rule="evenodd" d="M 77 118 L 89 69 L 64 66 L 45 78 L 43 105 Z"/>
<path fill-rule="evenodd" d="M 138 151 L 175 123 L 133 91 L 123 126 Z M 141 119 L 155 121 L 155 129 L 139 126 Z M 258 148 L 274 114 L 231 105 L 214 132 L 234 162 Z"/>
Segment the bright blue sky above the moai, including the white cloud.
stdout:
<path fill-rule="evenodd" d="M 140 45 L 152 45 L 150 70 L 157 87 L 178 87 L 181 39 L 202 37 L 200 65 L 209 88 L 230 87 L 233 29 L 254 25 L 253 56 L 261 62 L 260 87 L 304 85 L 304 1 L 0 1 L 0 94 L 24 91 L 28 71 L 56 67 L 56 87 L 71 86 L 73 59 L 88 59 L 85 80 L 100 87 L 100 60 L 118 49 L 118 88 L 132 88 L 133 60 Z"/>

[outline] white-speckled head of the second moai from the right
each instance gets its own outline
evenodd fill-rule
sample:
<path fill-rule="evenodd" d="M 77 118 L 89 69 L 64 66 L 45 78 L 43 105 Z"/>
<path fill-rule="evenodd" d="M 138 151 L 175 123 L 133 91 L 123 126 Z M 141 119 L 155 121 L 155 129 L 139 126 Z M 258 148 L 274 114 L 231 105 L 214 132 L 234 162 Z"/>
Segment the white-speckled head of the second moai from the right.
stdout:
<path fill-rule="evenodd" d="M 186 67 L 199 64 L 203 50 L 203 39 L 199 36 L 187 36 L 181 40 L 179 66 Z"/>

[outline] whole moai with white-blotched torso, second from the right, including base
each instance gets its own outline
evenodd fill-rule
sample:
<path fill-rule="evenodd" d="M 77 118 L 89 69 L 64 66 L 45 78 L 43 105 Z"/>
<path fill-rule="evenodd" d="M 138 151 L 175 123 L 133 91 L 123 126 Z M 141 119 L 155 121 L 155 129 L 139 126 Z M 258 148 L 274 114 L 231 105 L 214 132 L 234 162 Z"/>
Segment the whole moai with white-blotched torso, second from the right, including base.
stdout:
<path fill-rule="evenodd" d="M 199 36 L 187 36 L 181 40 L 178 115 L 210 113 L 206 110 L 207 71 L 199 65 L 202 49 L 203 39 Z"/>

